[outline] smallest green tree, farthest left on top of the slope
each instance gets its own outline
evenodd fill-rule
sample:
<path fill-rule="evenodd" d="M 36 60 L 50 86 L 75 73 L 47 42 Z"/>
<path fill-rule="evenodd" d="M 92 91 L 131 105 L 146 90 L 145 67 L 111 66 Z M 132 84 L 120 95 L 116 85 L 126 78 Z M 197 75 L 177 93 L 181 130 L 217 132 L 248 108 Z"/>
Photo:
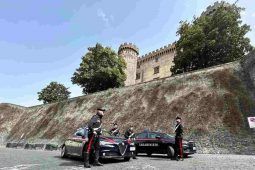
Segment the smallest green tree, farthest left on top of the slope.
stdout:
<path fill-rule="evenodd" d="M 59 102 L 67 100 L 69 95 L 70 92 L 68 91 L 68 88 L 66 88 L 63 84 L 51 82 L 44 89 L 38 92 L 38 100 L 42 100 L 44 104 Z"/>

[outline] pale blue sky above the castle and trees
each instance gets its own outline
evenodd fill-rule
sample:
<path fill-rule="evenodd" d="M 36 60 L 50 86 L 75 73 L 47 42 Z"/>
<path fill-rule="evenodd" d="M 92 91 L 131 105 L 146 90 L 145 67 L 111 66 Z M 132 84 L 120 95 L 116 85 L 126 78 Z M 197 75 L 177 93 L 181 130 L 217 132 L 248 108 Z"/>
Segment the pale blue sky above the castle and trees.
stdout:
<path fill-rule="evenodd" d="M 228 0 L 234 2 L 235 0 Z M 51 81 L 71 83 L 87 47 L 117 50 L 135 43 L 140 54 L 177 40 L 179 21 L 191 21 L 215 0 L 0 0 L 0 103 L 41 104 L 37 92 Z M 255 1 L 240 0 L 247 36 L 255 45 Z"/>

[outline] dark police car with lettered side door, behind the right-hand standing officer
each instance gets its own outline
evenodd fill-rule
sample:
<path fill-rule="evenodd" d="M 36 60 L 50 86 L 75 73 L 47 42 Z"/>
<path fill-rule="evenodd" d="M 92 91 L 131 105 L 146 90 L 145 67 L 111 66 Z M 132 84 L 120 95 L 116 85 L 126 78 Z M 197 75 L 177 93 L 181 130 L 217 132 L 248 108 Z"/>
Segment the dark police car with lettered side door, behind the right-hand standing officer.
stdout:
<path fill-rule="evenodd" d="M 175 137 L 166 133 L 144 131 L 135 134 L 136 154 L 167 154 L 169 158 L 174 157 Z M 183 140 L 183 155 L 196 153 L 196 145 L 193 141 Z"/>

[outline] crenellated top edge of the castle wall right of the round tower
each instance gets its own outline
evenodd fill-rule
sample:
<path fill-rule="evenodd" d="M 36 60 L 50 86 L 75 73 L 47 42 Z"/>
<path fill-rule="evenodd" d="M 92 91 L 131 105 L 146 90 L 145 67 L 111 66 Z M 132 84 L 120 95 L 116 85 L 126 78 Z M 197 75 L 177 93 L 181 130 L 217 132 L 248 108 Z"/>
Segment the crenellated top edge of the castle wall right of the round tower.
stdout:
<path fill-rule="evenodd" d="M 155 57 L 164 55 L 166 53 L 171 53 L 175 51 L 175 43 L 165 45 L 164 47 L 161 47 L 160 49 L 156 49 L 152 52 L 149 52 L 145 55 L 142 55 L 138 58 L 137 62 L 146 62 L 148 60 L 154 59 Z"/>

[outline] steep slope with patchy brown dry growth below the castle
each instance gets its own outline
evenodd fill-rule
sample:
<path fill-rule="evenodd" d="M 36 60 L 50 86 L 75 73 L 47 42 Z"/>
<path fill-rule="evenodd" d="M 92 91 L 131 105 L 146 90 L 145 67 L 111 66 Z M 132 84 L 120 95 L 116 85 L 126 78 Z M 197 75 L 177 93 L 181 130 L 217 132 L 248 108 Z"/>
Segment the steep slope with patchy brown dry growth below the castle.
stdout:
<path fill-rule="evenodd" d="M 174 119 L 179 115 L 186 138 L 195 140 L 200 152 L 229 153 L 233 149 L 235 153 L 251 153 L 255 140 L 250 136 L 246 116 L 254 113 L 255 106 L 239 78 L 239 70 L 238 63 L 227 64 L 27 108 L 12 127 L 9 139 L 24 133 L 30 140 L 61 141 L 84 125 L 97 106 L 103 105 L 108 110 L 104 117 L 106 129 L 117 121 L 122 132 L 133 124 L 136 131 L 173 133 Z"/>

